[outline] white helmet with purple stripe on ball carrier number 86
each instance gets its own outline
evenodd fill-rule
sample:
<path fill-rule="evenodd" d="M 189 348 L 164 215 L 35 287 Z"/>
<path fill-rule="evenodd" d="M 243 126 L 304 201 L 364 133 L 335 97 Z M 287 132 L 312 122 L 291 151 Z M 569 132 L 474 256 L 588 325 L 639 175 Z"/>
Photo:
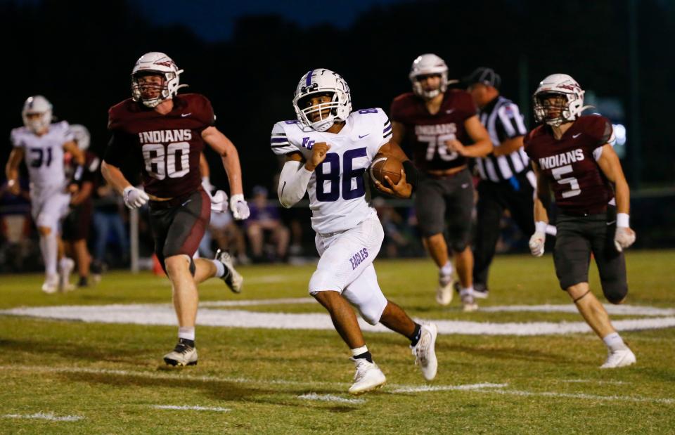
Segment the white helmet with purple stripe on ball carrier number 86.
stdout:
<path fill-rule="evenodd" d="M 317 96 L 322 93 L 330 94 L 330 103 L 321 103 L 307 107 L 303 102 L 307 98 Z M 335 121 L 345 121 L 352 112 L 352 93 L 345 79 L 337 72 L 319 68 L 310 70 L 304 74 L 297 84 L 295 96 L 293 96 L 293 108 L 297 120 L 303 125 L 311 127 L 316 131 L 326 131 L 330 129 Z M 324 114 L 328 110 L 328 114 Z M 319 118 L 312 121 L 314 115 Z"/>

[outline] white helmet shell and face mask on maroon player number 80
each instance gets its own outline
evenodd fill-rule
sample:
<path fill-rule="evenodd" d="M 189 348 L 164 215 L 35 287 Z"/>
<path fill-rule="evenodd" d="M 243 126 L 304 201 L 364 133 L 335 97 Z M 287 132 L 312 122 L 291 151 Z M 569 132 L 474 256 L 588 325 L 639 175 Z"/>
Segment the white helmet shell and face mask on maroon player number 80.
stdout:
<path fill-rule="evenodd" d="M 164 77 L 160 95 L 156 98 L 143 98 L 141 96 L 138 78 L 148 72 L 160 74 Z M 148 108 L 154 108 L 162 101 L 173 98 L 179 89 L 188 86 L 179 84 L 181 72 L 183 70 L 179 70 L 172 58 L 169 58 L 165 53 L 150 51 L 150 53 L 146 53 L 139 60 L 136 60 L 134 70 L 131 70 L 131 97 L 134 98 L 134 101 L 141 101 Z"/>

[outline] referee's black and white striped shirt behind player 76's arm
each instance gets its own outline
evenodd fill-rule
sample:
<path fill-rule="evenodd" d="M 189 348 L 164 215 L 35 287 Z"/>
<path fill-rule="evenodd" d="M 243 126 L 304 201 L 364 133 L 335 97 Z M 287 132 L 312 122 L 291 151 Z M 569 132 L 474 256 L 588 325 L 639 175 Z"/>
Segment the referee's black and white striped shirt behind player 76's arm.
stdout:
<path fill-rule="evenodd" d="M 527 134 L 518 106 L 503 96 L 495 98 L 480 109 L 478 117 L 487 129 L 495 147 L 501 145 L 503 141 Z M 494 157 L 490 154 L 486 157 L 477 157 L 476 167 L 480 178 L 499 183 L 516 174 L 528 171 L 529 158 L 525 150 L 520 147 L 508 155 Z"/>

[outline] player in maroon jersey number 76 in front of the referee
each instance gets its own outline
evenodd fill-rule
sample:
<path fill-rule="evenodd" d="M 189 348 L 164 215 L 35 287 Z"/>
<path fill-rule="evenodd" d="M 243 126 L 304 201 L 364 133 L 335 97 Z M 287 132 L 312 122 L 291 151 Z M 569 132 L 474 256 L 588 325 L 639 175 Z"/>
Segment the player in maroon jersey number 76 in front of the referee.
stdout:
<path fill-rule="evenodd" d="M 436 301 L 448 305 L 452 300 L 450 248 L 456 254 L 464 310 L 474 311 L 473 253 L 468 246 L 473 178 L 467 162 L 470 157 L 488 155 L 494 147 L 470 94 L 447 89 L 448 67 L 442 58 L 435 54 L 419 56 L 409 77 L 413 92 L 392 102 L 392 141 L 404 145 L 423 173 L 415 208 L 423 241 L 439 268 Z"/>

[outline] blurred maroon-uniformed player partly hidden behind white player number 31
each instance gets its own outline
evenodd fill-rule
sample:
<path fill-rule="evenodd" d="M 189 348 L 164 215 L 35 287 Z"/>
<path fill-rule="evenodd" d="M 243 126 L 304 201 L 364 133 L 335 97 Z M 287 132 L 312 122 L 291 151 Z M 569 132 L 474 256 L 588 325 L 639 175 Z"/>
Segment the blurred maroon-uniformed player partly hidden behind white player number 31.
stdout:
<path fill-rule="evenodd" d="M 84 165 L 80 166 L 72 161 L 70 153 L 65 155 L 65 171 L 70 179 L 69 190 L 72 196 L 70 197 L 70 211 L 63 221 L 62 238 L 65 254 L 75 259 L 77 264 L 79 274 L 77 287 L 86 287 L 89 285 L 89 265 L 91 264 L 91 254 L 86 247 L 86 240 L 89 238 L 91 214 L 94 212 L 91 195 L 96 188 L 101 160 L 87 150 L 91 136 L 85 126 L 72 124 L 70 131 L 77 147 L 84 152 L 85 160 Z M 81 174 L 77 174 L 78 171 Z"/>

